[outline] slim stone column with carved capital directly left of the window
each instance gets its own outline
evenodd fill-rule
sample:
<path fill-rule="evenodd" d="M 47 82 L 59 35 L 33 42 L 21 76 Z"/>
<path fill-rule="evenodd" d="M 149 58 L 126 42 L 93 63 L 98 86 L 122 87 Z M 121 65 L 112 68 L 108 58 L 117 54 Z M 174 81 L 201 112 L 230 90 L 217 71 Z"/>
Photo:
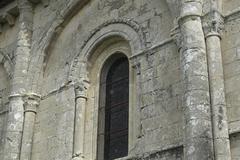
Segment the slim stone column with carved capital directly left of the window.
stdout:
<path fill-rule="evenodd" d="M 87 80 L 81 80 L 75 84 L 75 122 L 74 122 L 74 144 L 73 160 L 84 159 L 84 131 L 85 110 L 87 101 Z"/>

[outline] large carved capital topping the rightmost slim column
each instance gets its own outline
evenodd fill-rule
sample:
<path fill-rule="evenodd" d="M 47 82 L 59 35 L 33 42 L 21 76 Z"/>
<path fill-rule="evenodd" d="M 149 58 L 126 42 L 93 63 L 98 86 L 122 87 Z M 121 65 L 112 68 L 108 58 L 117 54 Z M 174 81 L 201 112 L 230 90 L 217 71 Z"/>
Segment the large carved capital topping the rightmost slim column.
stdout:
<path fill-rule="evenodd" d="M 224 18 L 217 10 L 210 11 L 202 18 L 203 31 L 205 38 L 209 36 L 218 36 L 221 38 L 221 33 L 224 28 Z"/>

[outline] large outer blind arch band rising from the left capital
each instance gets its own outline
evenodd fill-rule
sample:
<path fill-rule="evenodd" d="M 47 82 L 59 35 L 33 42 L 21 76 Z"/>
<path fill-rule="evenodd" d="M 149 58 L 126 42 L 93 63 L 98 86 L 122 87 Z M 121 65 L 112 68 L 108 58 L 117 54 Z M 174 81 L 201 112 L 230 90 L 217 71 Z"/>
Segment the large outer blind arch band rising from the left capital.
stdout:
<path fill-rule="evenodd" d="M 176 15 L 173 13 L 175 11 L 173 5 L 173 0 L 164 0 L 167 2 L 172 15 Z M 62 29 L 66 24 L 71 20 L 71 18 L 81 9 L 83 8 L 89 1 L 87 0 L 76 0 L 69 1 L 65 8 L 60 8 L 59 13 L 54 19 L 54 21 L 49 25 L 46 32 L 42 34 L 42 37 L 39 38 L 38 42 L 34 43 L 32 46 L 32 53 L 34 54 L 33 58 L 29 64 L 29 79 L 32 84 L 30 85 L 30 89 L 37 92 L 38 79 L 41 74 L 41 70 L 43 68 L 44 57 L 47 54 L 48 48 L 53 43 L 53 39 L 58 37 L 61 33 Z M 112 22 L 113 23 L 113 22 Z M 105 24 L 103 24 L 105 25 Z M 95 32 L 95 31 L 94 31 Z"/>

